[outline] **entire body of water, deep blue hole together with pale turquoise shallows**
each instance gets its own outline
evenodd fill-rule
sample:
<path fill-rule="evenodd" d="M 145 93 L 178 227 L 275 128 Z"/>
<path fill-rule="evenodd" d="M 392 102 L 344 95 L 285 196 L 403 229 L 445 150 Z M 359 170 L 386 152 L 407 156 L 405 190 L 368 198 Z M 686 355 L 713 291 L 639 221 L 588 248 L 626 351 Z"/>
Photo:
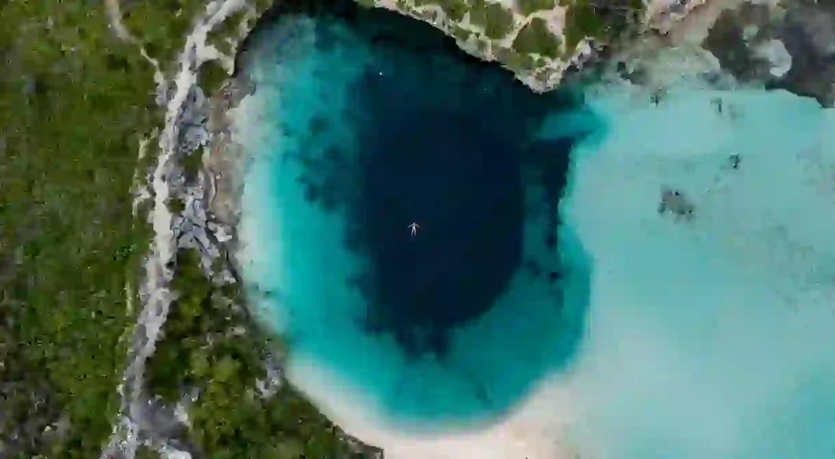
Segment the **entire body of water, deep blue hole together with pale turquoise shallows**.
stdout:
<path fill-rule="evenodd" d="M 835 455 L 832 110 L 540 96 L 417 21 L 282 8 L 235 115 L 244 275 L 327 414 L 443 436 L 527 402 L 595 457 Z"/>

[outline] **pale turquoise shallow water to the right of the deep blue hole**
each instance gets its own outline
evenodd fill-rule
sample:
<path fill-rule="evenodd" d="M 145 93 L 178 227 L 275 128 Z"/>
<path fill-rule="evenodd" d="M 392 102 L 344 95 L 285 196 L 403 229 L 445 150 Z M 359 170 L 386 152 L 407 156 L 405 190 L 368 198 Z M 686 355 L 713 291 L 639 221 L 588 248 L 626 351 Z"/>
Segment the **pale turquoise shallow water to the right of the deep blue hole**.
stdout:
<path fill-rule="evenodd" d="M 591 105 L 617 122 L 574 149 L 562 209 L 595 260 L 575 432 L 603 457 L 831 457 L 835 110 L 687 87 Z M 659 218 L 665 187 L 691 222 Z"/>

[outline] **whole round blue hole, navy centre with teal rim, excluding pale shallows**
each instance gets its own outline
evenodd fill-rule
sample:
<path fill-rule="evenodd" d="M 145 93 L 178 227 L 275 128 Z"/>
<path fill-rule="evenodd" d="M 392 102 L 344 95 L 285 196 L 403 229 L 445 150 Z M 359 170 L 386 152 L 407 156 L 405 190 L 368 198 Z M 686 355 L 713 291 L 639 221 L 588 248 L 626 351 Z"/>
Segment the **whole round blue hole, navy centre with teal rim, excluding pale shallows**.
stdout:
<path fill-rule="evenodd" d="M 246 47 L 245 275 L 297 383 L 326 374 L 442 428 L 495 421 L 570 365 L 590 265 L 559 199 L 579 137 L 541 134 L 581 97 L 352 3 L 282 3 Z"/>

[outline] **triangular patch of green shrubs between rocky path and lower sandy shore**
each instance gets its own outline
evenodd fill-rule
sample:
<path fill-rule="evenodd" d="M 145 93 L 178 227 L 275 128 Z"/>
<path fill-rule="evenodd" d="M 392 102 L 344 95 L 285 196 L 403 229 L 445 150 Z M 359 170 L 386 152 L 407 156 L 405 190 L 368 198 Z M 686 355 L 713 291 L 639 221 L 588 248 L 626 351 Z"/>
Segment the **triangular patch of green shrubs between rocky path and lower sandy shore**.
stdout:
<path fill-rule="evenodd" d="M 237 459 L 338 459 L 367 455 L 353 451 L 342 433 L 289 384 L 262 397 L 256 381 L 266 381 L 270 340 L 245 310 L 229 298 L 234 287 L 211 285 L 195 250 L 181 250 L 172 287 L 164 338 L 146 370 L 149 391 L 175 402 L 187 389 L 200 396 L 189 407 L 188 441 L 206 457 Z"/>

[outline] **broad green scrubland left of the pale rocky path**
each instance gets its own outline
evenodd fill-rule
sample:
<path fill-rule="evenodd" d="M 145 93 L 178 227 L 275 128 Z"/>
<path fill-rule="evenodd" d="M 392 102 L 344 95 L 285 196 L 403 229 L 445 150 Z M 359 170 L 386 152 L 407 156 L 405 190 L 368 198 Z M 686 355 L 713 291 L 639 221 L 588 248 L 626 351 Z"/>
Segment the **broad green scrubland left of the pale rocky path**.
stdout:
<path fill-rule="evenodd" d="M 96 457 L 147 246 L 129 186 L 160 122 L 153 73 L 101 3 L 4 2 L 0 23 L 0 441 L 9 457 Z"/>

